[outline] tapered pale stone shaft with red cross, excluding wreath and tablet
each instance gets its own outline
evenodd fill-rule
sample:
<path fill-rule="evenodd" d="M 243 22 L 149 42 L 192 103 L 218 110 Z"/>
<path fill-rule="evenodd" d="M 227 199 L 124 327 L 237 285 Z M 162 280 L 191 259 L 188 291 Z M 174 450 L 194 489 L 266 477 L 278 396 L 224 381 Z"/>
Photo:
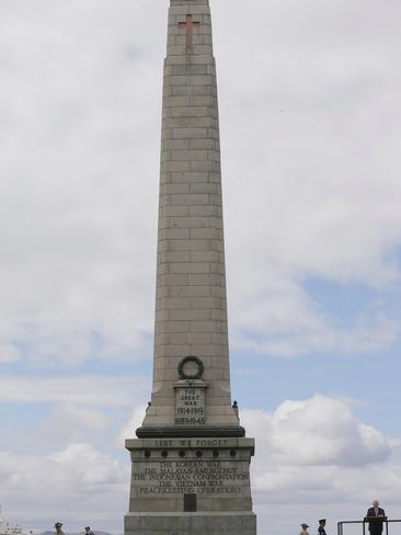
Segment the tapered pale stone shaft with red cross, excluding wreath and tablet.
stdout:
<path fill-rule="evenodd" d="M 176 369 L 196 355 L 208 425 L 231 408 L 216 66 L 207 0 L 176 0 L 164 61 L 152 406 L 145 426 L 174 424 Z"/>

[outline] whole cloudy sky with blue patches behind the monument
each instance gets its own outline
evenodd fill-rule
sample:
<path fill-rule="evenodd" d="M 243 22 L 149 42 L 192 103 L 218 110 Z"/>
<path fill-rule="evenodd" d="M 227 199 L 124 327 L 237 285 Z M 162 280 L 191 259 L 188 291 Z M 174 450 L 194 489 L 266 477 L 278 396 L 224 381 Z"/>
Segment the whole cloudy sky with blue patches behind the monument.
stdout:
<path fill-rule="evenodd" d="M 210 3 L 259 535 L 333 534 L 376 498 L 401 517 L 401 3 Z M 123 532 L 167 8 L 0 0 L 0 503 L 35 530 Z"/>

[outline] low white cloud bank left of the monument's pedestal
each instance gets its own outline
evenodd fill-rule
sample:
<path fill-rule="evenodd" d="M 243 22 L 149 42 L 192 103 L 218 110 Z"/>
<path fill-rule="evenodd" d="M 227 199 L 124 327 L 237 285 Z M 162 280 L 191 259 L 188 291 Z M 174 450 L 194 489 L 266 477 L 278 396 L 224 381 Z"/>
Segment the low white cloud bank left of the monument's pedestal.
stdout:
<path fill-rule="evenodd" d="M 123 465 L 84 443 L 46 456 L 3 452 L 0 482 L 3 503 L 12 503 L 10 516 L 47 530 L 55 519 L 62 520 L 66 530 L 81 531 L 84 519 L 110 527 L 115 515 L 122 522 L 127 506 L 129 462 Z M 113 520 L 114 528 L 118 524 Z"/>

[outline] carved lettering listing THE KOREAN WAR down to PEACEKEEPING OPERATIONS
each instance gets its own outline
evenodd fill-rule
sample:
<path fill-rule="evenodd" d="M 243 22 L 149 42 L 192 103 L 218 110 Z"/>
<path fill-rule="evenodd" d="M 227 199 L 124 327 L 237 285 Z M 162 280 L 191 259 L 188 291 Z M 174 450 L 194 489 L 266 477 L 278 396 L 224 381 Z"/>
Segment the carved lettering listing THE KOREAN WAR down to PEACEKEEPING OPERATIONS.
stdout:
<path fill-rule="evenodd" d="M 247 463 L 225 460 L 161 460 L 141 464 L 133 474 L 139 496 L 240 494 L 249 486 Z"/>

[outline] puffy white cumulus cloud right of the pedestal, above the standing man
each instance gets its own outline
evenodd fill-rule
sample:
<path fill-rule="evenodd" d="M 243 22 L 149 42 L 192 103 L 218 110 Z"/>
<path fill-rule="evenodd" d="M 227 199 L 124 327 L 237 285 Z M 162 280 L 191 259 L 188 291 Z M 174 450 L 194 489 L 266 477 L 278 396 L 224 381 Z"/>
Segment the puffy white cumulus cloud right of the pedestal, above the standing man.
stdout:
<path fill-rule="evenodd" d="M 254 489 L 270 500 L 300 491 L 301 501 L 369 499 L 375 488 L 393 497 L 401 486 L 399 441 L 360 422 L 344 400 L 316 395 L 287 400 L 273 413 L 247 410 L 242 419 L 256 437 Z"/>

